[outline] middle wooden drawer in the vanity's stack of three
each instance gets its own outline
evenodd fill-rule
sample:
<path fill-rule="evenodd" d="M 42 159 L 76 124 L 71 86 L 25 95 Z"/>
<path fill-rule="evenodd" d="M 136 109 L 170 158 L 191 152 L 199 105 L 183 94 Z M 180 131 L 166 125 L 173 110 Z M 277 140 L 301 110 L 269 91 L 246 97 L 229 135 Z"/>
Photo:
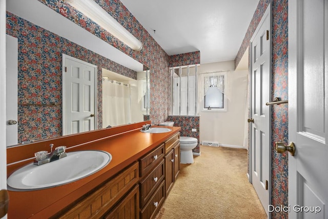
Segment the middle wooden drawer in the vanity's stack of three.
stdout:
<path fill-rule="evenodd" d="M 164 159 L 158 166 L 140 182 L 140 208 L 144 207 L 159 184 L 163 181 L 165 174 Z"/>

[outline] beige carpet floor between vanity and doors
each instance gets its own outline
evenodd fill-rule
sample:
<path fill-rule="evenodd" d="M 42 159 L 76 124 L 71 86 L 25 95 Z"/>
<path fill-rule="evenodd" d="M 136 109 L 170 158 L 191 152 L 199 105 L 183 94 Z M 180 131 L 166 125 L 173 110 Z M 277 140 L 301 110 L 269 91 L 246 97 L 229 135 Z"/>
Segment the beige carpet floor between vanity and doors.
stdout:
<path fill-rule="evenodd" d="M 247 150 L 200 146 L 156 215 L 166 218 L 267 218 L 247 177 Z"/>

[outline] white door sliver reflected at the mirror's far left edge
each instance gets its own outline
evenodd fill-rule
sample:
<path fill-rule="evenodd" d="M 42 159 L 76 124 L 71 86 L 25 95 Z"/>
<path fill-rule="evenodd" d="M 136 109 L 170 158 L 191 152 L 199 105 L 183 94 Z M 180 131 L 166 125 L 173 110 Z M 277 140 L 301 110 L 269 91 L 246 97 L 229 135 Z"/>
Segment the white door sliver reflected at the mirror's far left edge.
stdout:
<path fill-rule="evenodd" d="M 6 35 L 6 145 L 17 145 L 18 39 Z"/>

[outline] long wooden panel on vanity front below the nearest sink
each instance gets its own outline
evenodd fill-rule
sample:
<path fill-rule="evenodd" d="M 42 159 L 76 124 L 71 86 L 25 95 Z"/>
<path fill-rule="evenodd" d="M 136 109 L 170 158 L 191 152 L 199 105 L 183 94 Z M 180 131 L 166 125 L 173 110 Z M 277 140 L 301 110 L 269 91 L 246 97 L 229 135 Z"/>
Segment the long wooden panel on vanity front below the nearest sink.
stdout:
<path fill-rule="evenodd" d="M 99 218 L 117 203 L 139 180 L 139 165 L 114 176 L 108 183 L 83 197 L 83 200 L 68 207 L 65 213 L 53 218 Z"/>

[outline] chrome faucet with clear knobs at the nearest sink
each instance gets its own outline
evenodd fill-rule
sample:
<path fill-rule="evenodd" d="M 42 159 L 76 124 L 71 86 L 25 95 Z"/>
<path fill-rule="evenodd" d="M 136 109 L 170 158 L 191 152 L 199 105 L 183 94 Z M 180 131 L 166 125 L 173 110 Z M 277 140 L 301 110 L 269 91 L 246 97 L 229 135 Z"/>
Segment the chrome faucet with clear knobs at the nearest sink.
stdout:
<path fill-rule="evenodd" d="M 57 161 L 60 158 L 66 157 L 67 153 L 65 152 L 66 146 L 56 147 L 55 150 L 52 150 L 53 144 L 50 144 L 51 152 L 48 151 L 38 151 L 35 153 L 34 165 L 47 164 L 53 161 Z M 41 152 L 41 153 L 40 153 Z M 43 153 L 45 152 L 45 153 Z"/>

